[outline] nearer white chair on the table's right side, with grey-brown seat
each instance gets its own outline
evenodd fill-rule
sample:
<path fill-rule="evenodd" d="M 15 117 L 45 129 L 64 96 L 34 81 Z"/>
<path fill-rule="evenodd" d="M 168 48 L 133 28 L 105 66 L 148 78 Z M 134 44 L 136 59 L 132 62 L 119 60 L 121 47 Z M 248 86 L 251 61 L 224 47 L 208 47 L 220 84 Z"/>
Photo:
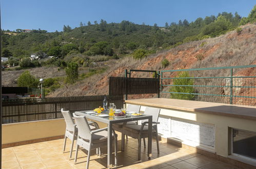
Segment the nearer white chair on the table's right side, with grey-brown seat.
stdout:
<path fill-rule="evenodd" d="M 160 109 L 146 107 L 144 114 L 152 115 L 152 134 L 156 137 L 157 153 L 159 154 L 159 140 L 157 133 L 157 122 Z M 145 138 L 148 137 L 148 120 L 142 120 L 142 125 L 124 125 L 123 134 L 138 139 L 138 160 L 141 159 L 141 139 L 143 138 L 145 147 Z"/>

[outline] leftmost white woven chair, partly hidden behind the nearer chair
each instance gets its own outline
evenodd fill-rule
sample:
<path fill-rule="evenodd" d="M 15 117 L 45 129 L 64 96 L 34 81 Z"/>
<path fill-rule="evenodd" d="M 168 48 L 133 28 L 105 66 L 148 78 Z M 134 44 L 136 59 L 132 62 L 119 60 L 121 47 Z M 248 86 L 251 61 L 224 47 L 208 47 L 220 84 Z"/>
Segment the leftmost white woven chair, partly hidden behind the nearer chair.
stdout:
<path fill-rule="evenodd" d="M 72 142 L 71 142 L 71 147 L 70 147 L 70 155 L 69 158 L 72 157 L 72 151 L 73 151 L 73 145 L 74 145 L 74 140 L 77 139 L 77 128 L 76 128 L 76 124 L 72 118 L 72 115 L 69 111 L 64 111 L 63 109 L 61 109 L 62 115 L 65 119 L 66 122 L 66 132 L 65 132 L 65 138 L 64 138 L 64 145 L 63 145 L 63 152 L 65 152 L 66 149 L 66 142 L 67 142 L 67 138 L 69 138 Z M 90 121 L 90 128 L 92 130 L 94 129 L 99 129 L 99 125 L 94 122 L 94 121 Z"/>

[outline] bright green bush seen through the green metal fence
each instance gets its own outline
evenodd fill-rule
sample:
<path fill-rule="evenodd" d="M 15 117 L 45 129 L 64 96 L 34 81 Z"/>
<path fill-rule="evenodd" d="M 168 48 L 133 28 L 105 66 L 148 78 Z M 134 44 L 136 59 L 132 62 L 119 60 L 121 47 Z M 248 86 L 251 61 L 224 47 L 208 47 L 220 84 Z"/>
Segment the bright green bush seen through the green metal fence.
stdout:
<path fill-rule="evenodd" d="M 188 72 L 181 72 L 178 76 L 181 79 L 174 79 L 173 85 L 169 89 L 169 92 L 175 92 L 171 93 L 171 98 L 174 99 L 184 99 L 184 100 L 193 100 L 195 95 L 190 93 L 195 93 L 194 88 L 192 85 L 194 85 L 194 80 L 187 78 L 189 77 Z M 184 94 L 188 93 L 188 94 Z"/>

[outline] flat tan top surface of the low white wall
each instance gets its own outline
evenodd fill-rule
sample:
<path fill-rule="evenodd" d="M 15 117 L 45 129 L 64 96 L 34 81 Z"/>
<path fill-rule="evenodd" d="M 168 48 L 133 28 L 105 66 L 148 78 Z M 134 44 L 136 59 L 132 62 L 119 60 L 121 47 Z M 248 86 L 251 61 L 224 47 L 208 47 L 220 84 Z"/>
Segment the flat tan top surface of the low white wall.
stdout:
<path fill-rule="evenodd" d="M 148 107 L 174 109 L 189 112 L 208 113 L 235 118 L 256 120 L 256 107 L 237 104 L 214 103 L 204 101 L 179 100 L 169 98 L 150 98 L 125 100 L 128 104 Z"/>

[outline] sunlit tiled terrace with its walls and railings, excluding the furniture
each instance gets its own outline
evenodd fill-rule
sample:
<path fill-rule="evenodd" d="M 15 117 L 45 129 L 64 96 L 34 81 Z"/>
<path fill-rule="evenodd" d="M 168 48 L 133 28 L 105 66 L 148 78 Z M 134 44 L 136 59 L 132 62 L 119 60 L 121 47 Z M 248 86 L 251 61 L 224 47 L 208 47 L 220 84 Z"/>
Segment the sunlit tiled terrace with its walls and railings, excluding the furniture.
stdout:
<path fill-rule="evenodd" d="M 160 154 L 157 154 L 153 139 L 152 158 L 148 159 L 147 148 L 142 146 L 142 158 L 138 161 L 137 140 L 129 138 L 122 152 L 121 134 L 118 133 L 116 168 L 255 168 L 256 76 L 232 74 L 232 69 L 254 70 L 255 67 L 224 68 L 231 69 L 231 75 L 223 77 L 173 78 L 168 71 L 161 74 L 144 71 L 155 73 L 155 78 L 130 78 L 131 72 L 139 72 L 131 70 L 126 71 L 125 78 L 110 78 L 108 101 L 114 102 L 117 108 L 123 107 L 125 101 L 126 105 L 141 105 L 141 113 L 145 107 L 161 109 L 158 124 Z M 172 70 L 175 71 L 181 70 Z M 186 78 L 194 79 L 194 84 L 174 83 L 175 79 Z M 170 91 L 173 86 L 194 87 L 196 92 Z M 193 95 L 194 100 L 170 99 L 170 95 Z M 66 124 L 60 109 L 71 112 L 92 110 L 102 105 L 103 98 L 5 100 L 2 108 L 2 167 L 85 168 L 86 151 L 78 152 L 76 164 L 74 153 L 69 159 L 68 148 L 62 152 Z M 99 125 L 106 127 L 105 123 Z M 69 147 L 70 140 L 67 141 Z M 107 167 L 107 147 L 102 153 L 98 157 L 95 151 L 92 152 L 90 168 Z"/>

